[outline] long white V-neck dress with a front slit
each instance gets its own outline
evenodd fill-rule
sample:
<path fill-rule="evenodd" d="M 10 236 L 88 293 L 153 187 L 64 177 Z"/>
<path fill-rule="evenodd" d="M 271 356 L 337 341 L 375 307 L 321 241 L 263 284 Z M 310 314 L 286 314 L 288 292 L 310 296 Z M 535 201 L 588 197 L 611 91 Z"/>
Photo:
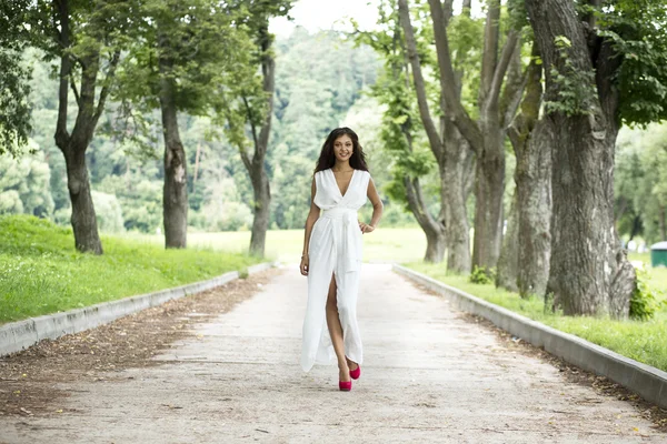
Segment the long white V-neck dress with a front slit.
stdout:
<path fill-rule="evenodd" d="M 312 226 L 308 244 L 308 303 L 301 347 L 301 366 L 306 372 L 315 363 L 330 364 L 336 359 L 326 315 L 331 274 L 338 289 L 336 295 L 346 356 L 358 364 L 362 361 L 357 325 L 362 233 L 357 210 L 367 201 L 369 180 L 368 171 L 355 170 L 342 195 L 331 169 L 315 174 L 313 201 L 322 213 Z"/>

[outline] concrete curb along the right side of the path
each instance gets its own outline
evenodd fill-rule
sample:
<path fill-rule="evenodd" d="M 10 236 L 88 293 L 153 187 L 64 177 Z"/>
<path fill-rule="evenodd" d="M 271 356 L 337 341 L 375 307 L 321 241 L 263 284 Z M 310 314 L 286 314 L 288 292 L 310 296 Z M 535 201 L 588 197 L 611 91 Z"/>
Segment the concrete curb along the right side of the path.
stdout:
<path fill-rule="evenodd" d="M 392 268 L 399 274 L 447 296 L 460 310 L 482 316 L 512 335 L 544 347 L 580 369 L 606 376 L 646 401 L 667 408 L 667 372 L 521 316 L 402 265 L 394 264 Z"/>

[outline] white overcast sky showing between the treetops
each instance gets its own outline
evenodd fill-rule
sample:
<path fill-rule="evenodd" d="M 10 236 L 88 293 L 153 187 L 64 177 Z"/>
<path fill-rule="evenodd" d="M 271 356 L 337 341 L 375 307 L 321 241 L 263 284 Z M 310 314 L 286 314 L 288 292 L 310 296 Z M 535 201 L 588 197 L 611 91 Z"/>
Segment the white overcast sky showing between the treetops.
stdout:
<path fill-rule="evenodd" d="M 271 19 L 270 30 L 280 37 L 287 37 L 296 26 L 302 26 L 310 32 L 319 30 L 350 30 L 346 28 L 348 18 L 354 18 L 360 29 L 372 29 L 378 19 L 378 0 L 298 0 L 290 11 L 292 22 L 283 18 Z M 455 1 L 455 10 L 460 0 Z M 479 13 L 479 1 L 472 2 L 472 13 Z"/>

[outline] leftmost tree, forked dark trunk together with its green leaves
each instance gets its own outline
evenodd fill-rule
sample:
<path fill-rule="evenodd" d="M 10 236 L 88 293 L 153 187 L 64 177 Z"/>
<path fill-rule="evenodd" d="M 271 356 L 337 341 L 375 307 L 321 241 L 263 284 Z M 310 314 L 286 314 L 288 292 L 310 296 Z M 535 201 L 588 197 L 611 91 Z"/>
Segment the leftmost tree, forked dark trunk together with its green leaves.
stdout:
<path fill-rule="evenodd" d="M 128 11 L 128 2 L 123 0 L 38 1 L 30 10 L 33 43 L 46 52 L 47 59 L 60 60 L 54 139 L 66 161 L 76 246 L 96 254 L 102 253 L 102 244 L 90 194 L 86 151 L 112 87 Z M 70 89 L 77 105 L 71 130 L 68 128 Z"/>

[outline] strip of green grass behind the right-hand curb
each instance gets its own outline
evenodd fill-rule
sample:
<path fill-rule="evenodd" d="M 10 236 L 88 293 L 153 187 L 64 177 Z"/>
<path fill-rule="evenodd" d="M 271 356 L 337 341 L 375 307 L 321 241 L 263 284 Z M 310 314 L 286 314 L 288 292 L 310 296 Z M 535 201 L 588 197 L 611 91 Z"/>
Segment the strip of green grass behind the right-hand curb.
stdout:
<path fill-rule="evenodd" d="M 496 289 L 494 285 L 472 284 L 466 276 L 448 275 L 442 264 L 409 263 L 406 266 L 526 317 L 667 371 L 667 305 L 665 304 L 655 319 L 647 322 L 563 316 L 545 312 L 544 301 L 539 297 L 522 300 L 517 293 Z M 665 289 L 665 280 L 660 278 L 663 270 L 657 270 L 659 272 L 656 275 L 653 275 L 656 269 L 649 270 L 651 282 L 661 283 L 661 289 Z"/>

